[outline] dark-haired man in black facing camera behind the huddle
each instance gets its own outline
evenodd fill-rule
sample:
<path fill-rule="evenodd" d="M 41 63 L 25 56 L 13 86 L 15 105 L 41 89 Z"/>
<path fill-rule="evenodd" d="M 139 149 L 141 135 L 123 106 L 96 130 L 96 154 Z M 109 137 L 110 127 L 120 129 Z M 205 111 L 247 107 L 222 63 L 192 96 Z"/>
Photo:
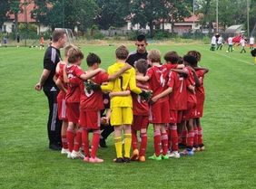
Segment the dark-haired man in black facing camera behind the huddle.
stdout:
<path fill-rule="evenodd" d="M 148 52 L 146 51 L 146 47 L 148 45 L 145 35 L 140 34 L 137 36 L 137 41 L 135 43 L 137 46 L 137 51 L 131 52 L 129 54 L 128 59 L 126 60 L 127 63 L 134 67 L 134 62 L 140 59 L 147 60 Z"/>

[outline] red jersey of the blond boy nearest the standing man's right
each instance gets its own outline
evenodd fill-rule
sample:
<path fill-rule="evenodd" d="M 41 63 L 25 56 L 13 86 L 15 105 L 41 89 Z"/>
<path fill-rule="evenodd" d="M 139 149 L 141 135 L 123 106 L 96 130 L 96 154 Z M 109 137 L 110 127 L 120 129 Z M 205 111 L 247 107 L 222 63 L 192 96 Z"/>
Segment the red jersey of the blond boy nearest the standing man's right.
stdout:
<path fill-rule="evenodd" d="M 66 66 L 67 78 L 70 83 L 67 85 L 66 103 L 80 102 L 80 84 L 83 83 L 79 77 L 84 74 L 84 71 L 77 65 L 70 64 Z"/>

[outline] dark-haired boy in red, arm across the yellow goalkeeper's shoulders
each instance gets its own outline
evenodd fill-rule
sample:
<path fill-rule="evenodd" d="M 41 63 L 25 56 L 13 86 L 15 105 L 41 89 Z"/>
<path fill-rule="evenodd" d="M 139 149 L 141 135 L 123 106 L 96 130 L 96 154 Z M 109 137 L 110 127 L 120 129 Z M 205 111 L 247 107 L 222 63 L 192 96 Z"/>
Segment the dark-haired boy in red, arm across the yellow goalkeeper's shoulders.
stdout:
<path fill-rule="evenodd" d="M 94 53 L 89 53 L 86 58 L 88 65 L 88 70 L 86 73 L 90 73 L 99 68 L 101 64 L 101 59 Z M 103 82 L 108 80 L 115 80 L 118 78 L 124 71 L 130 69 L 131 66 L 124 66 L 120 71 L 116 71 L 112 75 L 108 75 L 105 72 L 97 73 L 92 81 L 94 83 L 101 85 Z M 100 111 L 103 109 L 103 92 L 101 90 L 86 90 L 84 88 L 84 83 L 80 85 L 81 90 L 81 102 L 80 102 L 80 118 L 79 124 L 83 129 L 82 141 L 84 145 L 84 161 L 90 163 L 102 163 L 103 159 L 100 159 L 96 156 L 97 149 L 100 141 Z M 89 153 L 89 139 L 88 134 L 92 131 L 94 133 L 92 140 L 92 150 Z"/>

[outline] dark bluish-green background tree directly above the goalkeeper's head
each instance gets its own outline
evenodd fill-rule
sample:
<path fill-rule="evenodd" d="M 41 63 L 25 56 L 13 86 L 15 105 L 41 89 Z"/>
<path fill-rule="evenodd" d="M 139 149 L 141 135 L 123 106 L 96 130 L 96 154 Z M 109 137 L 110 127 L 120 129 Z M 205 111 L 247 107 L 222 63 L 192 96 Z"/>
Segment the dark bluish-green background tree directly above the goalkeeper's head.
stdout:
<path fill-rule="evenodd" d="M 100 29 L 108 30 L 111 26 L 120 27 L 126 24 L 130 0 L 97 0 L 99 12 L 95 22 Z"/>

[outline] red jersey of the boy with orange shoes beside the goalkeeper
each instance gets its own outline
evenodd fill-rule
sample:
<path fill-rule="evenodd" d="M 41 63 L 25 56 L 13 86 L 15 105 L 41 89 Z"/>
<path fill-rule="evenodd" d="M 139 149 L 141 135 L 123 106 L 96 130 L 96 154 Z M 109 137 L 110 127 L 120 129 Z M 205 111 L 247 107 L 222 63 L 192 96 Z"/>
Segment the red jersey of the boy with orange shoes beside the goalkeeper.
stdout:
<path fill-rule="evenodd" d="M 149 90 L 149 83 L 136 80 L 136 85 L 141 90 Z M 146 100 L 142 99 L 140 95 L 132 93 L 133 97 L 133 115 L 148 116 L 149 104 Z"/>

